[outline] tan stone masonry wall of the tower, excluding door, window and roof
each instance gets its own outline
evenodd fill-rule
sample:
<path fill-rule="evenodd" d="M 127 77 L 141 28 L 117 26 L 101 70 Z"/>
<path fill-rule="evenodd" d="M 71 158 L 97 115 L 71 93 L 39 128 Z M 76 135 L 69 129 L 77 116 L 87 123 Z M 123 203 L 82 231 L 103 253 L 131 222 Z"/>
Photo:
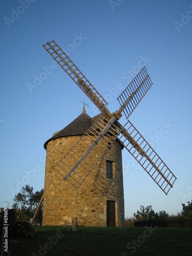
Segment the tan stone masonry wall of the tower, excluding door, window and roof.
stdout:
<path fill-rule="evenodd" d="M 52 168 L 79 139 L 79 136 L 51 140 L 47 145 L 45 192 L 42 225 L 106 226 L 106 201 L 116 201 L 116 226 L 124 226 L 124 196 L 121 144 L 115 141 L 111 150 L 76 189 Z M 95 146 L 98 157 L 103 152 Z M 106 178 L 106 160 L 114 161 L 114 178 Z"/>

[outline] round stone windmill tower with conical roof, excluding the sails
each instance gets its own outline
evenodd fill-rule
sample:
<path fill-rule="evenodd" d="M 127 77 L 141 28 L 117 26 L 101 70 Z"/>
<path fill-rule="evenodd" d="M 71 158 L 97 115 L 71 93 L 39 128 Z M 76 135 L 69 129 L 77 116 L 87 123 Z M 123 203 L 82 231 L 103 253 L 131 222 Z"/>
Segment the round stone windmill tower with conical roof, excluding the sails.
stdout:
<path fill-rule="evenodd" d="M 47 157 L 42 225 L 71 225 L 72 217 L 77 217 L 79 225 L 124 225 L 122 143 L 118 139 L 113 144 L 109 142 L 108 151 L 102 145 L 95 147 L 94 154 L 99 162 L 78 189 L 63 182 L 60 172 L 52 168 L 97 119 L 98 116 L 87 115 L 83 106 L 82 113 L 73 122 L 44 144 Z M 83 151 L 83 143 L 94 141 L 95 137 L 93 130 L 84 136 L 79 150 Z M 74 154 L 78 155 L 79 150 Z M 90 156 L 84 168 L 90 169 L 94 161 L 95 157 Z"/>

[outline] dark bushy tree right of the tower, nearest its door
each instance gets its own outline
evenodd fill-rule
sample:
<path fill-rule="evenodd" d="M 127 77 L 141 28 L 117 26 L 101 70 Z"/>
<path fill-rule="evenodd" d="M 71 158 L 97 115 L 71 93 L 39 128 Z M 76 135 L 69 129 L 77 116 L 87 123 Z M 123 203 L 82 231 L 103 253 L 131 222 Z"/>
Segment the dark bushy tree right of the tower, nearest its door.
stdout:
<path fill-rule="evenodd" d="M 136 221 L 140 220 L 152 220 L 158 217 L 157 212 L 155 212 L 151 205 L 148 205 L 144 207 L 143 205 L 140 206 L 140 211 L 137 210 L 136 213 L 134 213 L 134 217 Z"/>

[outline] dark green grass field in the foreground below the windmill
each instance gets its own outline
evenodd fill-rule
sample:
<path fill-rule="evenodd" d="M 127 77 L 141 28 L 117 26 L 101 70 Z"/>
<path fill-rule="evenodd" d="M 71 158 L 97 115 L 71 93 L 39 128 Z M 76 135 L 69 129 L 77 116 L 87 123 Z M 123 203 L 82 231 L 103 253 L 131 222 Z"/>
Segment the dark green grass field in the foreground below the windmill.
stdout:
<path fill-rule="evenodd" d="M 11 256 L 192 255 L 192 228 L 36 227 L 36 238 L 11 237 Z M 13 242 L 14 241 L 14 242 Z"/>

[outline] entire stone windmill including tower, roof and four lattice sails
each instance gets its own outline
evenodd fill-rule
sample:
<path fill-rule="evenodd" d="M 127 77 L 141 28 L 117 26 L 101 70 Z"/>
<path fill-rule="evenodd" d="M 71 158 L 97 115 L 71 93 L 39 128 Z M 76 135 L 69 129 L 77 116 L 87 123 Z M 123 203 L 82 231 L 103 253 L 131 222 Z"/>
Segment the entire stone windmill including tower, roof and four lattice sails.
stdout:
<path fill-rule="evenodd" d="M 43 47 L 101 113 L 91 118 L 83 108 L 80 116 L 45 143 L 42 224 L 66 225 L 77 217 L 81 225 L 123 226 L 122 147 L 166 195 L 177 179 L 130 120 L 125 125 L 119 122 L 121 113 L 128 119 L 151 88 L 150 76 L 143 67 L 117 98 L 119 110 L 111 113 L 105 99 L 55 41 Z"/>

